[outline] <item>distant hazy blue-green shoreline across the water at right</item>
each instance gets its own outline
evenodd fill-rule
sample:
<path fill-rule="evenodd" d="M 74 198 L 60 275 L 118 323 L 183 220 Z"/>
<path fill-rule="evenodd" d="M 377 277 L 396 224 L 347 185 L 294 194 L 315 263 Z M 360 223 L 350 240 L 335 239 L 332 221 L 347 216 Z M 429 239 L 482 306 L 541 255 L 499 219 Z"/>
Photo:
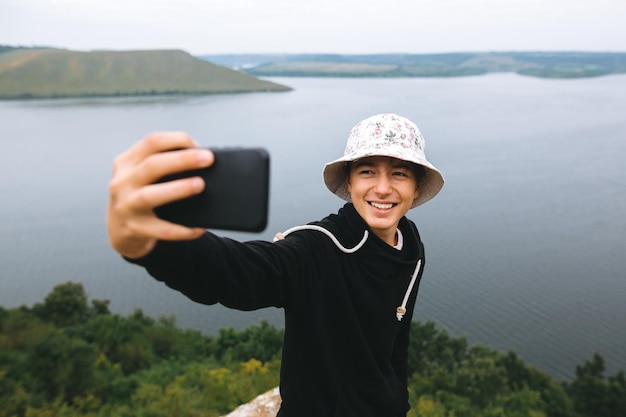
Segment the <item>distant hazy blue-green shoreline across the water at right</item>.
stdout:
<path fill-rule="evenodd" d="M 514 72 L 541 78 L 626 73 L 626 52 L 225 54 L 200 58 L 262 77 L 460 77 Z"/>

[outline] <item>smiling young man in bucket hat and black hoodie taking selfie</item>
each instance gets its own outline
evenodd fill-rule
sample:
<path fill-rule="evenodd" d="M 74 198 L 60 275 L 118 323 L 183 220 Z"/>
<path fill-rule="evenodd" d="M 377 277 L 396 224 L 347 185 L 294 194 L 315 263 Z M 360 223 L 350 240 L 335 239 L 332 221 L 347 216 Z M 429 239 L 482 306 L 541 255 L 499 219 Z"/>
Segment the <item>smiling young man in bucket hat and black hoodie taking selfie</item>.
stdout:
<path fill-rule="evenodd" d="M 154 215 L 154 207 L 202 189 L 197 178 L 153 184 L 210 166 L 213 155 L 195 146 L 185 134 L 159 133 L 116 159 L 111 245 L 196 302 L 284 309 L 280 417 L 405 416 L 409 330 L 424 266 L 405 214 L 444 183 L 417 126 L 394 114 L 357 124 L 344 155 L 324 167 L 326 186 L 347 203 L 273 243 L 237 242 Z M 175 148 L 185 149 L 162 152 Z"/>

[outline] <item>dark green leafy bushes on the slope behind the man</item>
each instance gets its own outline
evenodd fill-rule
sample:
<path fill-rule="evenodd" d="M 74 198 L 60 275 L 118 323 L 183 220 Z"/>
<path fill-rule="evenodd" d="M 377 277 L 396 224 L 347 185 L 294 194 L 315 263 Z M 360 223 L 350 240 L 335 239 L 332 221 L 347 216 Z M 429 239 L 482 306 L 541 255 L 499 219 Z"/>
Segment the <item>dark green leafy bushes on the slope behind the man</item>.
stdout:
<path fill-rule="evenodd" d="M 0 417 L 220 416 L 278 384 L 282 329 L 207 336 L 108 304 L 68 282 L 0 308 Z M 431 322 L 413 322 L 409 375 L 410 417 L 626 416 L 624 372 L 600 354 L 559 382 Z"/>

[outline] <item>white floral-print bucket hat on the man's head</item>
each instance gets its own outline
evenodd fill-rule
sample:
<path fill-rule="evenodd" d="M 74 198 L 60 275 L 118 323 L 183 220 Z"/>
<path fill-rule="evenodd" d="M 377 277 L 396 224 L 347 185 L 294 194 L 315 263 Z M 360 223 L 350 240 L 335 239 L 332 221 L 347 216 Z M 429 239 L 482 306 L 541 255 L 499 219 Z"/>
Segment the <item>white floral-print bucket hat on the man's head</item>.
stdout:
<path fill-rule="evenodd" d="M 352 128 L 343 156 L 324 166 L 324 182 L 328 189 L 350 201 L 346 188 L 347 164 L 368 156 L 389 156 L 424 167 L 425 175 L 418 182 L 418 197 L 411 208 L 424 204 L 443 187 L 443 175 L 426 160 L 425 142 L 415 123 L 396 114 L 371 116 Z"/>

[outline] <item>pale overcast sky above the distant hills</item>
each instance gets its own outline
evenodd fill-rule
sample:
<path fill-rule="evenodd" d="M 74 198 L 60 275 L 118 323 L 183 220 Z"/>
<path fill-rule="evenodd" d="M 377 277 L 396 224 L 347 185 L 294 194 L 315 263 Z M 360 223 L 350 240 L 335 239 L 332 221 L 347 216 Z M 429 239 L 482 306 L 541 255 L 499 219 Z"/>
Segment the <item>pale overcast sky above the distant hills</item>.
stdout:
<path fill-rule="evenodd" d="M 217 53 L 626 52 L 626 0 L 0 0 L 0 44 Z"/>

